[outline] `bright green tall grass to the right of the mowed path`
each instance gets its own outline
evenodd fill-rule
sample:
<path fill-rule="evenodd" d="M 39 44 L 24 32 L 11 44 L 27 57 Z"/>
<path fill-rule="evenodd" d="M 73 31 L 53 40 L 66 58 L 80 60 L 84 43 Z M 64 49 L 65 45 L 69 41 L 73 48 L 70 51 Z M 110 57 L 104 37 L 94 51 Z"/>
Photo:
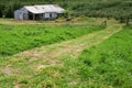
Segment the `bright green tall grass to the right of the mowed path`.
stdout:
<path fill-rule="evenodd" d="M 97 87 L 132 87 L 132 26 L 124 29 L 103 43 L 86 48 L 79 56 L 81 81 L 89 79 Z"/>

